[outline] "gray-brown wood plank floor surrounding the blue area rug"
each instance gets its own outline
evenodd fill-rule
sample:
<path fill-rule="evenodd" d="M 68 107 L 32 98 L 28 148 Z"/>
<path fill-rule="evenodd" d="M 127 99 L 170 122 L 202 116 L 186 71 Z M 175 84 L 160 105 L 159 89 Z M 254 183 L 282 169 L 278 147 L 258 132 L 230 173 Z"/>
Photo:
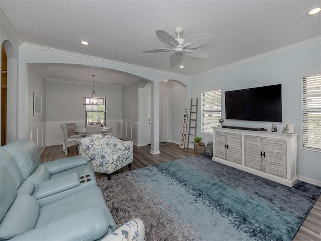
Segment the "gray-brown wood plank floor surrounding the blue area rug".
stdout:
<path fill-rule="evenodd" d="M 114 172 L 112 175 L 197 155 L 197 153 L 194 153 L 193 149 L 182 149 L 178 144 L 174 143 L 165 144 L 159 149 L 161 154 L 153 155 L 150 153 L 150 146 L 134 146 L 134 161 L 131 165 L 131 169 L 126 166 Z M 41 160 L 42 162 L 48 162 L 77 155 L 79 155 L 79 153 L 76 145 L 68 148 L 67 155 L 63 152 L 62 145 L 49 146 L 46 147 L 41 154 Z M 97 179 L 107 176 L 103 173 L 95 174 Z M 321 197 L 319 197 L 313 206 L 293 241 L 321 241 Z"/>

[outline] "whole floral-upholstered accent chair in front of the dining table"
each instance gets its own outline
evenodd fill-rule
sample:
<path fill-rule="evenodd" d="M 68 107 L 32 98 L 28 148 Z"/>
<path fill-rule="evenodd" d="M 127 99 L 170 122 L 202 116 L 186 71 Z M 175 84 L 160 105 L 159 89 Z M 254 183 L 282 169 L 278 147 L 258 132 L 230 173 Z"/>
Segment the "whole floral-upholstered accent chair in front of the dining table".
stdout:
<path fill-rule="evenodd" d="M 95 172 L 108 174 L 133 162 L 133 142 L 123 141 L 106 134 L 94 134 L 80 139 L 78 142 L 79 155 L 84 156 L 92 165 Z"/>

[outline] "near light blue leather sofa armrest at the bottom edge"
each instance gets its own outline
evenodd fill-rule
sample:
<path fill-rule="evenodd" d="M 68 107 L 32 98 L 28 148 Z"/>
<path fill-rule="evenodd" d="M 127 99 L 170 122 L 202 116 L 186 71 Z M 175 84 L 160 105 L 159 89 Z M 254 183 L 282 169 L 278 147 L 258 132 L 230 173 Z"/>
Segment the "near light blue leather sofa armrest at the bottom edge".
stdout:
<path fill-rule="evenodd" d="M 103 208 L 88 208 L 19 235 L 12 241 L 97 240 L 109 229 Z"/>

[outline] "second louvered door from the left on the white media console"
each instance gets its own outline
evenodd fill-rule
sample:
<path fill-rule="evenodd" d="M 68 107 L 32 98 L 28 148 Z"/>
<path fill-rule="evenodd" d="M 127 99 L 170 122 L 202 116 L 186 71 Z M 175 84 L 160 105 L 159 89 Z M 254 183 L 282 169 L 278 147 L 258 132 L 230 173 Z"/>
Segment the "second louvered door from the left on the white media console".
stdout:
<path fill-rule="evenodd" d="M 242 135 L 228 133 L 227 145 L 227 160 L 237 164 L 242 164 Z"/>

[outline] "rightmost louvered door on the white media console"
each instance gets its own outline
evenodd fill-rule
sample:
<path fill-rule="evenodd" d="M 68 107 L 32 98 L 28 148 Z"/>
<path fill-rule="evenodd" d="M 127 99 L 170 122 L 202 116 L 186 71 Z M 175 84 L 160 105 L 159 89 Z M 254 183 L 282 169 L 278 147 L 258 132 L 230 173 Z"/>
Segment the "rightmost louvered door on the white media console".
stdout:
<path fill-rule="evenodd" d="M 286 140 L 264 138 L 263 171 L 278 177 L 286 175 Z"/>

